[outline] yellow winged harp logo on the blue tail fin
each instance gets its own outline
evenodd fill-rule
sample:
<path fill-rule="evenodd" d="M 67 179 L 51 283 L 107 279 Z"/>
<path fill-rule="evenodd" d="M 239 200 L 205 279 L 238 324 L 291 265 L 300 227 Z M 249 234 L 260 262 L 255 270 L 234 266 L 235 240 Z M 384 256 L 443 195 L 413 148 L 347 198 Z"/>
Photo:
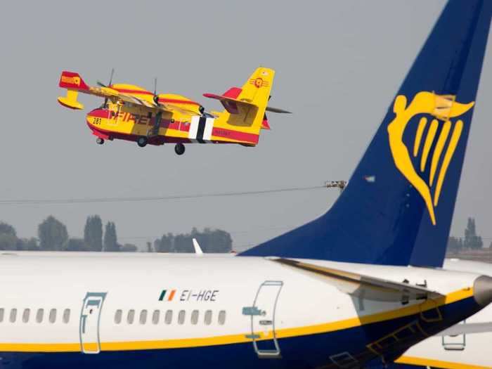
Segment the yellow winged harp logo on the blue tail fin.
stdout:
<path fill-rule="evenodd" d="M 436 95 L 432 92 L 422 91 L 415 95 L 413 101 L 407 105 L 407 98 L 403 95 L 396 96 L 393 105 L 393 111 L 396 117 L 388 124 L 388 136 L 389 136 L 389 148 L 391 149 L 391 155 L 393 155 L 394 164 L 396 168 L 401 171 L 401 174 L 405 176 L 410 184 L 415 187 L 425 201 L 429 216 L 434 226 L 436 225 L 436 215 L 434 212 L 435 207 L 439 202 L 439 195 L 441 194 L 441 188 L 444 183 L 444 177 L 448 170 L 449 163 L 453 158 L 456 146 L 460 140 L 460 136 L 463 130 L 463 121 L 458 119 L 455 122 L 451 122 L 451 118 L 459 117 L 470 110 L 474 105 L 474 102 L 462 104 L 455 101 L 453 95 Z M 403 143 L 403 133 L 410 122 L 410 119 L 415 115 L 427 114 L 432 115 L 434 119 L 429 124 L 427 129 L 427 136 L 423 140 L 425 128 L 427 127 L 427 117 L 420 118 L 417 126 L 417 132 L 415 134 L 415 141 L 413 143 L 413 157 L 420 158 L 420 173 L 423 173 L 427 166 L 427 158 L 429 157 L 429 151 L 436 138 L 436 132 L 438 131 L 439 124 L 442 124 L 441 133 L 437 137 L 437 141 L 434 145 L 434 153 L 430 160 L 429 179 L 426 182 L 417 169 L 413 167 L 413 162 L 410 159 L 410 153 L 405 143 Z M 451 138 L 448 140 L 448 136 L 451 132 Z M 446 142 L 448 142 L 445 150 Z M 441 169 L 437 174 L 437 167 L 441 160 L 441 155 L 444 152 L 444 158 L 441 162 Z M 437 177 L 436 177 L 437 174 Z M 434 180 L 437 178 L 437 181 Z"/>

